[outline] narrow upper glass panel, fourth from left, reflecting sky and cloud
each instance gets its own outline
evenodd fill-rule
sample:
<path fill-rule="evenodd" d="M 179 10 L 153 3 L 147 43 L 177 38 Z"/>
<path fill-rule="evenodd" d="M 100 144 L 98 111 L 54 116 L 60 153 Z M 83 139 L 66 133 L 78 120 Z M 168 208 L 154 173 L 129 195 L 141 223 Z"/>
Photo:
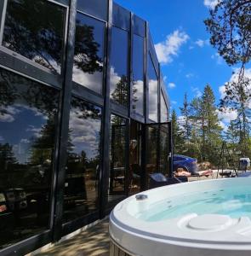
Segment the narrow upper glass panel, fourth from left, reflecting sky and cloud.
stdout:
<path fill-rule="evenodd" d="M 144 38 L 134 35 L 132 111 L 144 115 Z"/>

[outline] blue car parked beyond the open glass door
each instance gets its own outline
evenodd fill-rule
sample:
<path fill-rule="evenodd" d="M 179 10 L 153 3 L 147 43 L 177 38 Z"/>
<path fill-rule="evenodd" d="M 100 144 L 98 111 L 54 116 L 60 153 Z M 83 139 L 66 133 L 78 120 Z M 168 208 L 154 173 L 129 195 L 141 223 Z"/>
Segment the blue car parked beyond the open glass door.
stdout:
<path fill-rule="evenodd" d="M 178 168 L 183 168 L 186 172 L 191 172 L 191 174 L 197 174 L 197 159 L 181 154 L 174 154 L 174 172 Z"/>

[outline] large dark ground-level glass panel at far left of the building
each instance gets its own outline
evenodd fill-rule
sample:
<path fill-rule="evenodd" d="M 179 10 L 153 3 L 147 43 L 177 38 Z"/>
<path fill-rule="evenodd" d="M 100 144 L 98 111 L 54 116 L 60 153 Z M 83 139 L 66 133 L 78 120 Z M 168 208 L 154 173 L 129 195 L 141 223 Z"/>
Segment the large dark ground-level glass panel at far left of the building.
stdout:
<path fill-rule="evenodd" d="M 0 69 L 0 249 L 49 228 L 58 99 Z"/>

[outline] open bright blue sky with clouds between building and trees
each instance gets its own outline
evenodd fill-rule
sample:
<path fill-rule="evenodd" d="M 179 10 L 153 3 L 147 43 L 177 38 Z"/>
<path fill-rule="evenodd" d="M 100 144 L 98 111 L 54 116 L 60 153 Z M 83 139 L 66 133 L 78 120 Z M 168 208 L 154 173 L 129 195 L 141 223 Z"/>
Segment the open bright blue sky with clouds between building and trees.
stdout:
<path fill-rule="evenodd" d="M 203 23 L 217 0 L 117 0 L 144 20 L 148 20 L 151 37 L 166 78 L 171 107 L 180 113 L 185 92 L 189 100 L 200 96 L 206 84 L 214 90 L 219 102 L 225 82 L 231 79 L 233 67 L 209 44 L 209 33 Z M 250 69 L 251 73 L 251 69 Z M 224 123 L 234 113 L 221 116 Z"/>

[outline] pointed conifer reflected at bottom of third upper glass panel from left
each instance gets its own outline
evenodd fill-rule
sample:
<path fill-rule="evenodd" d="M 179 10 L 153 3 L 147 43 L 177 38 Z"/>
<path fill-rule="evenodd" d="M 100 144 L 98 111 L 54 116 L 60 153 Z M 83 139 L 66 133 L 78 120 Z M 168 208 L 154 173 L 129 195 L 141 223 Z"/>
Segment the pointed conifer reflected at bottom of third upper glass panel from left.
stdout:
<path fill-rule="evenodd" d="M 124 106 L 128 105 L 128 78 L 123 75 L 111 93 L 112 100 Z"/>

